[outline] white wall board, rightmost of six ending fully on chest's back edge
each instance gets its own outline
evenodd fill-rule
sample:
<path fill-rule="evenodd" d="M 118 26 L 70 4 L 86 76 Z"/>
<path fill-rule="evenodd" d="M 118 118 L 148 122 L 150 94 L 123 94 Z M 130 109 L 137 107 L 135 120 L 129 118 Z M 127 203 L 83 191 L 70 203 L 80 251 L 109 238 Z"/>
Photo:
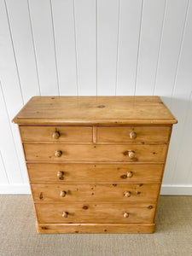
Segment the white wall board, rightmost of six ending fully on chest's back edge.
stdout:
<path fill-rule="evenodd" d="M 137 95 L 151 95 L 160 49 L 166 0 L 145 0 L 137 63 Z"/>

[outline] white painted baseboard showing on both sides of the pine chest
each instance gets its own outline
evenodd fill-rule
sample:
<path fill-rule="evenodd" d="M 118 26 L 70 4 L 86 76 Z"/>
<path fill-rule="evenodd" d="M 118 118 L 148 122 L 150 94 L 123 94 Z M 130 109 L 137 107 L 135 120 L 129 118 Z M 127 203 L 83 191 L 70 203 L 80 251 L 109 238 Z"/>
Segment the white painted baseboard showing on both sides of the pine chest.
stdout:
<path fill-rule="evenodd" d="M 30 195 L 29 184 L 0 184 L 0 194 Z M 192 195 L 191 185 L 162 185 L 160 195 Z"/>

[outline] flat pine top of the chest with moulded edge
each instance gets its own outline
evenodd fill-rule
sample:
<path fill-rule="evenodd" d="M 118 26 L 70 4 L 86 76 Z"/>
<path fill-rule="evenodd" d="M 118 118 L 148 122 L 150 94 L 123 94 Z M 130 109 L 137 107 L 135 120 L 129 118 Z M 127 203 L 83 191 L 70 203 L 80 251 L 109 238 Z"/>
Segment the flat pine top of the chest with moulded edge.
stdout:
<path fill-rule="evenodd" d="M 159 96 L 34 96 L 15 116 L 19 125 L 172 125 Z"/>

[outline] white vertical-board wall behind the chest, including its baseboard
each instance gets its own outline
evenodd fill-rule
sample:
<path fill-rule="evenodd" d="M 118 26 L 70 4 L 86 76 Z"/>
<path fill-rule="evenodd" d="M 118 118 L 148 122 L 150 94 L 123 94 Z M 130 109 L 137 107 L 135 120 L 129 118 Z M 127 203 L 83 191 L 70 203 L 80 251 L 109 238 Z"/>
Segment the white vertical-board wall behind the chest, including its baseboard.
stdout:
<path fill-rule="evenodd" d="M 0 0 L 0 193 L 30 193 L 30 97 L 133 95 L 177 117 L 161 194 L 192 195 L 192 0 Z"/>

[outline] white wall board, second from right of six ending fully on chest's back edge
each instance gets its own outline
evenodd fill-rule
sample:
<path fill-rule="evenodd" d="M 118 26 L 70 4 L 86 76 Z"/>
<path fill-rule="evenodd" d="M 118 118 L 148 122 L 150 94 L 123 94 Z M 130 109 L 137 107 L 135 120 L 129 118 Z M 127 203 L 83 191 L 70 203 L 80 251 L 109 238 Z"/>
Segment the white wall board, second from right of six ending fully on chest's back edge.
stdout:
<path fill-rule="evenodd" d="M 120 1 L 117 96 L 133 96 L 135 93 L 142 8 L 142 0 Z"/>

